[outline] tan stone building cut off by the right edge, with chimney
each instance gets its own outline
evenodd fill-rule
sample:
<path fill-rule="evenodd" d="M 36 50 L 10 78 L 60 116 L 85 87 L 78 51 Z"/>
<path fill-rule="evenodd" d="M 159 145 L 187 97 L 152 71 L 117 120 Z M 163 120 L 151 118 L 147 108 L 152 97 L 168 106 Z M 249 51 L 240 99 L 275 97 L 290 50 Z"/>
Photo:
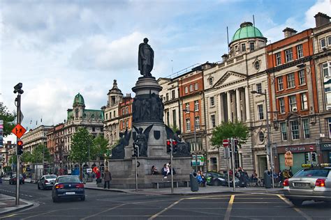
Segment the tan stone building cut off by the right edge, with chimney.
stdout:
<path fill-rule="evenodd" d="M 315 15 L 316 27 L 311 35 L 314 49 L 314 63 L 318 94 L 318 123 L 320 135 L 316 143 L 321 150 L 320 161 L 331 163 L 331 23 L 330 17 L 323 13 Z"/>

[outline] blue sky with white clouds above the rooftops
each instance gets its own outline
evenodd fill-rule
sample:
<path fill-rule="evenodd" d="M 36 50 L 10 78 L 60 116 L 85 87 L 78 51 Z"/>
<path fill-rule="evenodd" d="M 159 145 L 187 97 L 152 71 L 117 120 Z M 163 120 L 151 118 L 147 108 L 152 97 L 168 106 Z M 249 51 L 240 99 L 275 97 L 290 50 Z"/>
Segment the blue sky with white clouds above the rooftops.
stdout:
<path fill-rule="evenodd" d="M 13 86 L 22 82 L 22 125 L 57 125 L 78 93 L 86 109 L 105 106 L 114 79 L 134 96 L 143 38 L 158 79 L 221 61 L 226 27 L 231 39 L 253 15 L 270 43 L 286 27 L 314 28 L 318 12 L 330 16 L 330 0 L 0 0 L 0 102 L 15 111 Z"/>

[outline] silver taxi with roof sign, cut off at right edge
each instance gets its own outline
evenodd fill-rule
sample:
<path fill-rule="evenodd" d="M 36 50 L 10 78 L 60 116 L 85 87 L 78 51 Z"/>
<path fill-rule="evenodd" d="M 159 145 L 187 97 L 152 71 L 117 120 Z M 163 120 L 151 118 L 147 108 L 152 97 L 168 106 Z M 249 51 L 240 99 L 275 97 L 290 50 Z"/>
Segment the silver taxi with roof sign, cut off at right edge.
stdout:
<path fill-rule="evenodd" d="M 283 182 L 284 196 L 293 205 L 303 201 L 331 203 L 331 164 L 302 164 L 302 169 Z"/>

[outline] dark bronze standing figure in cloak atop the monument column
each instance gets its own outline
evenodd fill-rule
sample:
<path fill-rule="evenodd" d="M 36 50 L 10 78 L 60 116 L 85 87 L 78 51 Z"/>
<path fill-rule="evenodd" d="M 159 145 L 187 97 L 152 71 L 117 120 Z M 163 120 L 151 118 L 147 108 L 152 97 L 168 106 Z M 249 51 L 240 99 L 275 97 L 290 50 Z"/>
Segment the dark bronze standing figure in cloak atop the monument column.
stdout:
<path fill-rule="evenodd" d="M 139 45 L 138 49 L 138 70 L 144 77 L 152 77 L 152 70 L 154 66 L 154 51 L 150 45 L 147 44 L 148 39 Z"/>

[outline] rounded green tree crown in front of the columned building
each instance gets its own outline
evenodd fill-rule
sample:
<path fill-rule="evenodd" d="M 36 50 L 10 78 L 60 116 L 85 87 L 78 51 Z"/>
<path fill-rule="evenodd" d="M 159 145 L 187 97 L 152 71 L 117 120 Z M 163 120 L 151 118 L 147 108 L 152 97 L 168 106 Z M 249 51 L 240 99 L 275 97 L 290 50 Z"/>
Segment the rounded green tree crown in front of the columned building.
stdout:
<path fill-rule="evenodd" d="M 249 128 L 242 122 L 222 122 L 212 131 L 212 145 L 221 146 L 224 139 L 236 138 L 245 143 L 249 138 Z"/>

